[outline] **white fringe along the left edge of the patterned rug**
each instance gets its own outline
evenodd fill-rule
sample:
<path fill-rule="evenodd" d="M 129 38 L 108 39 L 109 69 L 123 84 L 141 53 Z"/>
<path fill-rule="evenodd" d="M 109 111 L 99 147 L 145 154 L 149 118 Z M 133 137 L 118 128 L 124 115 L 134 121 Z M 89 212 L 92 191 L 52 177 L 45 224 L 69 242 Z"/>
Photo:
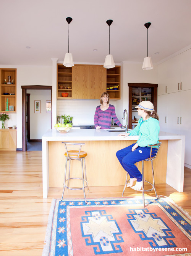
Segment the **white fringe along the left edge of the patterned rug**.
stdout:
<path fill-rule="evenodd" d="M 43 251 L 42 251 L 42 256 L 47 256 L 48 253 L 49 253 L 50 230 L 51 230 L 51 227 L 52 227 L 55 201 L 56 201 L 56 199 L 52 199 L 52 203 L 51 203 L 51 206 L 50 206 L 49 220 L 48 220 L 47 230 L 46 230 L 45 239 L 44 239 L 44 243 L 46 243 L 46 244 L 44 245 L 44 248 L 43 248 Z"/>

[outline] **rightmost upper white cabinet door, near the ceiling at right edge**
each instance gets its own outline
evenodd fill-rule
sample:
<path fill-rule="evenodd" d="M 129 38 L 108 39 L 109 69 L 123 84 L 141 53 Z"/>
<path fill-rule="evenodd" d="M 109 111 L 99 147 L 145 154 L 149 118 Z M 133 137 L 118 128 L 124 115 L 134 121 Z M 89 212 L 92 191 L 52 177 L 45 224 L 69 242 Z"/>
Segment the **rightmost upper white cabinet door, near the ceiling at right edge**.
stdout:
<path fill-rule="evenodd" d="M 191 49 L 181 53 L 181 89 L 191 89 Z"/>

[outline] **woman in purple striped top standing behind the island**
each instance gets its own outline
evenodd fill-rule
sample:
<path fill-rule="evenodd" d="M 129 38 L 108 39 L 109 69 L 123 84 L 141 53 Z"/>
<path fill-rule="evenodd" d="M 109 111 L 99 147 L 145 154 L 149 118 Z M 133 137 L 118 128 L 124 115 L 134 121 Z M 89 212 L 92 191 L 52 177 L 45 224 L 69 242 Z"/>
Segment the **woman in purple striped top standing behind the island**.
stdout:
<path fill-rule="evenodd" d="M 109 94 L 103 92 L 100 97 L 100 106 L 95 109 L 94 124 L 96 129 L 110 129 L 111 119 L 122 128 L 122 124 L 115 114 L 115 107 L 109 104 Z"/>

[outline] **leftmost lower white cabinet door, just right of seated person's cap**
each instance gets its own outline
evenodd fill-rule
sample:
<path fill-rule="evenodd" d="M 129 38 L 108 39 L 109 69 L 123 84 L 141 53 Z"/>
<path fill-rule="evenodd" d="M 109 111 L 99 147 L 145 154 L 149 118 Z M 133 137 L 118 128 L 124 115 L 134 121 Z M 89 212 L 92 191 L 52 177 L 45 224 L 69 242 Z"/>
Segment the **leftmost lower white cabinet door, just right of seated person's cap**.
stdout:
<path fill-rule="evenodd" d="M 158 96 L 157 113 L 159 115 L 160 131 L 167 132 L 168 94 Z"/>

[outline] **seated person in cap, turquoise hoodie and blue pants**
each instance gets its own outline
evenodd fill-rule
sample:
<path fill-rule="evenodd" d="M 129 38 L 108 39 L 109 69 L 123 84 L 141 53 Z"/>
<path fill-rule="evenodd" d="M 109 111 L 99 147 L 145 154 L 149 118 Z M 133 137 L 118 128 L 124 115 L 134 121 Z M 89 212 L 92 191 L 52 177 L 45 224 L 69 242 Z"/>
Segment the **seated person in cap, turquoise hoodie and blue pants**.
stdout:
<path fill-rule="evenodd" d="M 127 187 L 132 187 L 133 182 L 136 181 L 132 188 L 141 190 L 142 174 L 135 163 L 150 157 L 151 147 L 148 147 L 148 145 L 159 143 L 160 127 L 159 116 L 157 112 L 154 112 L 152 102 L 142 101 L 136 108 L 138 109 L 138 115 L 141 116 L 138 125 L 132 131 L 128 131 L 126 134 L 119 134 L 118 136 L 139 135 L 138 141 L 125 149 L 119 150 L 116 156 L 122 167 L 129 173 L 130 182 L 127 184 Z"/>

